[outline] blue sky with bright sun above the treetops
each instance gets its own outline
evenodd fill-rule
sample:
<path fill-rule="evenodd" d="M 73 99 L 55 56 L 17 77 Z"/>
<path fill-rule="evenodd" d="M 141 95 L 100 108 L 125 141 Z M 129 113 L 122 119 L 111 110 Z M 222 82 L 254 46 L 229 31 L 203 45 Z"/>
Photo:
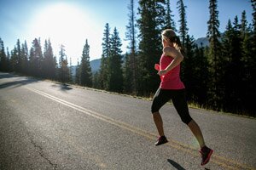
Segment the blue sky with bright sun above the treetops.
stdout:
<path fill-rule="evenodd" d="M 31 47 L 32 40 L 50 38 L 54 54 L 58 55 L 60 44 L 64 44 L 68 58 L 73 65 L 82 54 L 85 39 L 90 45 L 90 60 L 102 55 L 102 35 L 109 23 L 111 33 L 117 27 L 126 52 L 125 26 L 128 22 L 130 0 L 0 0 L 0 37 L 9 51 L 15 47 L 17 39 L 26 40 Z M 135 1 L 137 2 L 137 1 Z M 172 14 L 178 28 L 177 0 L 170 0 Z M 189 35 L 206 37 L 209 20 L 208 0 L 183 0 Z M 136 4 L 137 6 L 137 4 Z M 225 30 L 228 20 L 246 10 L 247 20 L 252 22 L 252 7 L 249 0 L 218 0 L 218 20 L 220 31 Z M 137 11 L 137 8 L 136 8 Z"/>

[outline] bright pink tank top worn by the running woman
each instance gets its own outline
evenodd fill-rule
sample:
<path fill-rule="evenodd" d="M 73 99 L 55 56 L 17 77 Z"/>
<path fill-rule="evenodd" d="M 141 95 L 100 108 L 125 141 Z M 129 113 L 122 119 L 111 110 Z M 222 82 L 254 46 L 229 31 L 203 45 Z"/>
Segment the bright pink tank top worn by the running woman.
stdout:
<path fill-rule="evenodd" d="M 164 54 L 161 55 L 160 58 L 160 70 L 166 69 L 168 65 L 172 62 L 173 58 L 166 56 Z M 172 71 L 167 72 L 166 75 L 160 77 L 160 88 L 162 89 L 183 89 L 185 88 L 183 82 L 179 77 L 180 65 L 177 65 Z"/>

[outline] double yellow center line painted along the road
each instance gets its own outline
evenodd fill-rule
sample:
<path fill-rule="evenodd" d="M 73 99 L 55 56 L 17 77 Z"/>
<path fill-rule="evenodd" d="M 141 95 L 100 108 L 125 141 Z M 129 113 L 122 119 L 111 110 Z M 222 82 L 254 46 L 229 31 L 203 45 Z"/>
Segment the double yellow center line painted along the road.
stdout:
<path fill-rule="evenodd" d="M 35 88 L 27 88 L 27 87 L 24 87 L 36 94 L 40 94 L 48 99 L 52 99 L 62 105 L 66 105 L 67 107 L 70 107 L 70 108 L 73 108 L 74 110 L 76 111 L 80 111 L 80 112 L 83 112 L 84 114 L 86 115 L 89 115 L 89 116 L 93 116 L 97 119 L 100 119 L 102 120 L 103 122 L 108 122 L 110 124 L 113 124 L 114 126 L 117 126 L 117 127 L 120 127 L 120 128 L 123 128 L 125 130 L 128 130 L 132 133 L 136 133 L 138 135 L 141 135 L 145 138 L 148 138 L 148 139 L 151 139 L 151 140 L 155 140 L 157 135 L 154 134 L 154 133 L 148 133 L 147 131 L 143 130 L 143 129 L 140 129 L 138 127 L 133 127 L 125 122 L 119 122 L 117 120 L 114 120 L 113 118 L 111 117 L 108 117 L 108 116 L 104 116 L 102 114 L 99 114 L 95 111 L 90 111 L 88 109 L 85 109 L 84 107 L 81 107 L 79 105 L 75 105 L 73 103 L 70 103 L 66 100 L 63 100 L 63 99 L 59 99 L 59 98 L 56 98 L 55 96 L 52 96 L 50 94 L 46 94 L 42 91 L 39 91 Z M 177 142 L 173 139 L 169 139 L 169 142 L 166 143 L 166 145 L 169 145 L 171 146 L 172 148 L 175 148 L 177 150 L 183 150 L 184 152 L 187 152 L 189 154 L 191 154 L 192 156 L 198 156 L 198 151 L 195 150 L 195 148 L 192 148 L 190 147 L 189 145 L 186 145 L 186 144 L 182 144 L 180 142 Z M 232 170 L 240 170 L 240 169 L 248 169 L 248 170 L 256 170 L 256 168 L 254 167 L 248 167 L 247 165 L 245 164 L 241 164 L 237 161 L 233 161 L 233 160 L 230 160 L 230 159 L 227 159 L 227 158 L 224 158 L 222 156 L 217 156 L 216 154 L 212 155 L 212 159 L 211 159 L 211 162 L 215 163 L 215 164 L 218 164 L 219 166 L 221 167 L 224 167 L 225 169 L 232 169 Z"/>

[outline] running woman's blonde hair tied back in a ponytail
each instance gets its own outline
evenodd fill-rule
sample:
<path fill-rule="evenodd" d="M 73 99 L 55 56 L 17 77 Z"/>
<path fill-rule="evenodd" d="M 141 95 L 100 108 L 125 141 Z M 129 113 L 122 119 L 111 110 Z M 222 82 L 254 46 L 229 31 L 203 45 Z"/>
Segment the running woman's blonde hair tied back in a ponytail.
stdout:
<path fill-rule="evenodd" d="M 175 31 L 172 29 L 166 29 L 162 31 L 161 33 L 162 38 L 169 40 L 170 42 L 173 43 L 174 48 L 176 48 L 178 51 L 183 51 L 183 46 L 180 42 L 179 37 L 176 36 Z"/>

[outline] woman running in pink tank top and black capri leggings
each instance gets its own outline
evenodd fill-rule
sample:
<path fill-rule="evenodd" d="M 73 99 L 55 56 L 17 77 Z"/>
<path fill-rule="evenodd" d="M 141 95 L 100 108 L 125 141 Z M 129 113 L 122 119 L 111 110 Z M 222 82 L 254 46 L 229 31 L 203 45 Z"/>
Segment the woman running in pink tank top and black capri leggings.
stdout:
<path fill-rule="evenodd" d="M 183 61 L 183 54 L 181 53 L 182 45 L 179 37 L 176 36 L 172 29 L 166 29 L 161 34 L 163 54 L 160 58 L 160 65 L 155 64 L 154 68 L 160 75 L 160 88 L 154 94 L 151 112 L 155 126 L 160 135 L 155 145 L 165 144 L 167 141 L 163 121 L 160 116 L 160 108 L 172 99 L 172 103 L 181 117 L 182 122 L 187 124 L 191 132 L 195 135 L 201 150 L 201 166 L 207 164 L 212 156 L 213 150 L 207 147 L 203 139 L 201 129 L 197 123 L 189 115 L 189 108 L 185 97 L 185 87 L 179 77 L 180 63 Z"/>

